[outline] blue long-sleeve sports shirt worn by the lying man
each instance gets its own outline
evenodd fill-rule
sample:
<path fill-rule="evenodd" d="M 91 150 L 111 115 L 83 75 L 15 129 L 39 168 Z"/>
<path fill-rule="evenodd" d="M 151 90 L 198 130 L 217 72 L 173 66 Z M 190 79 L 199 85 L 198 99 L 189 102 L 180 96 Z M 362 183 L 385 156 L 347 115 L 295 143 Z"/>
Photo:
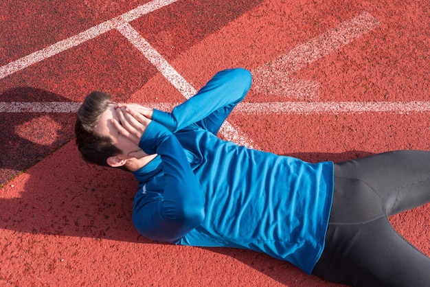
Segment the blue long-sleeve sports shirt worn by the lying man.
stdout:
<path fill-rule="evenodd" d="M 245 69 L 221 71 L 172 113 L 154 111 L 139 146 L 158 156 L 133 172 L 133 222 L 152 240 L 252 249 L 311 273 L 324 249 L 333 164 L 216 137 L 250 85 Z"/>

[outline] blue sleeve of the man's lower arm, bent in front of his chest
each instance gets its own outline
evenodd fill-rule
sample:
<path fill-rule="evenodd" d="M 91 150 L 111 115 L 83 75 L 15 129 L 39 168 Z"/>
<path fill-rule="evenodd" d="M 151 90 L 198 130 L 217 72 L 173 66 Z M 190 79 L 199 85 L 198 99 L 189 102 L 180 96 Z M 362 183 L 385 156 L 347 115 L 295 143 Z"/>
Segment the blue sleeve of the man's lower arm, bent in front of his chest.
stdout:
<path fill-rule="evenodd" d="M 133 223 L 152 240 L 177 242 L 203 221 L 203 192 L 179 141 L 166 127 L 152 121 L 139 147 L 161 156 L 164 175 L 161 191 L 135 197 Z"/>

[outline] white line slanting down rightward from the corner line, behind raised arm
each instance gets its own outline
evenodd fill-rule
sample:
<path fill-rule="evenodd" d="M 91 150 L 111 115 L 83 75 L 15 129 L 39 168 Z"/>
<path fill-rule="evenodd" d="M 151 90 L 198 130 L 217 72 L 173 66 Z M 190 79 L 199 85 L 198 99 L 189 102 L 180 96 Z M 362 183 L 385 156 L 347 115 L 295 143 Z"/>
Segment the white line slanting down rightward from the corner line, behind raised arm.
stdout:
<path fill-rule="evenodd" d="M 192 87 L 190 83 L 187 82 L 178 73 L 169 62 L 159 54 L 159 52 L 154 49 L 144 37 L 142 37 L 139 32 L 137 32 L 130 24 L 126 23 L 117 27 L 117 30 L 130 41 L 130 43 L 136 47 L 145 58 L 147 58 L 152 65 L 154 65 L 157 70 L 175 87 L 185 99 L 189 99 L 196 94 L 196 89 Z M 234 141 L 241 146 L 247 146 L 248 148 L 256 148 L 253 146 L 253 142 L 245 133 L 242 133 L 227 121 L 223 123 L 220 128 L 220 133 L 229 141 Z"/>

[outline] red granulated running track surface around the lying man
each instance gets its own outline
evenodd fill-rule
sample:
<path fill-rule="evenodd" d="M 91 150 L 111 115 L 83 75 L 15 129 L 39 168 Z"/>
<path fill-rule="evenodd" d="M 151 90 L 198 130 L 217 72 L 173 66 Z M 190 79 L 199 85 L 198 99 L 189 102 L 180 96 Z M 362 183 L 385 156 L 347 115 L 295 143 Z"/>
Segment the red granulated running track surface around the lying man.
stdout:
<path fill-rule="evenodd" d="M 149 3 L 45 2 L 5 1 L 0 8 L 2 67 Z M 427 102 L 430 3 L 386 2 L 178 0 L 130 24 L 195 89 L 230 67 L 253 71 L 256 85 L 261 69 L 275 65 L 284 72 L 266 91 L 251 87 L 248 103 Z M 312 45 L 363 12 L 378 24 L 340 47 L 328 40 L 324 49 Z M 300 53 L 288 58 L 300 45 L 330 52 L 315 60 Z M 295 62 L 305 65 L 293 69 Z M 296 83 L 296 93 L 272 93 L 286 89 L 285 78 Z M 313 97 L 300 92 L 308 88 L 316 91 Z M 111 30 L 0 78 L 0 103 L 80 102 L 95 89 L 119 102 L 185 100 L 141 51 Z M 418 111 L 238 109 L 228 121 L 256 148 L 338 162 L 387 150 L 428 150 L 428 118 Z M 339 286 L 253 251 L 173 246 L 139 236 L 131 222 L 135 179 L 84 163 L 73 143 L 74 120 L 73 113 L 0 112 L 0 285 Z M 428 256 L 429 209 L 390 218 Z"/>

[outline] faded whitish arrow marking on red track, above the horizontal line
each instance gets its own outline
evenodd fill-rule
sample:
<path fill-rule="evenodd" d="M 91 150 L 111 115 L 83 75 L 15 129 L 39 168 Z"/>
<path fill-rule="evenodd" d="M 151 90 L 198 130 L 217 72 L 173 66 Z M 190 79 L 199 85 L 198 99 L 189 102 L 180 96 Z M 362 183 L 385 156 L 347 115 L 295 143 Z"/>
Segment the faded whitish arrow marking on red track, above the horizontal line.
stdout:
<path fill-rule="evenodd" d="M 317 100 L 319 82 L 288 78 L 311 62 L 347 45 L 381 23 L 367 12 L 334 27 L 312 40 L 298 45 L 287 54 L 255 69 L 253 88 L 259 93 L 284 95 L 296 100 Z"/>

